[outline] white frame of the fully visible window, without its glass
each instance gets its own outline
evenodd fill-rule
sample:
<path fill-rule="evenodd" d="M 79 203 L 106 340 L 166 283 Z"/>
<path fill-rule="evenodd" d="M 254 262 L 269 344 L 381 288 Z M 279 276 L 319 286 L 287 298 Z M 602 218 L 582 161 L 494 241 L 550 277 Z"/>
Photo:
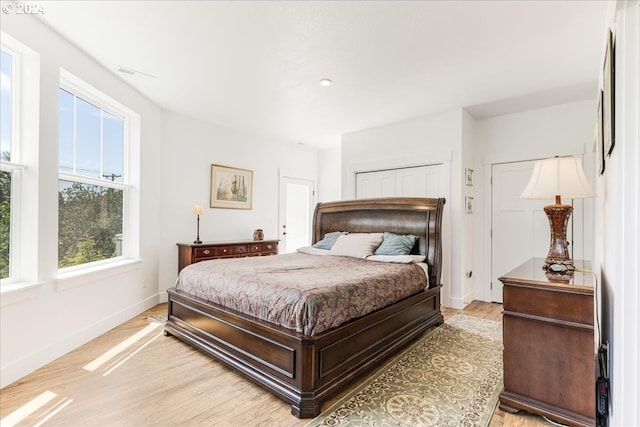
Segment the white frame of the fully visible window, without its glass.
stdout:
<path fill-rule="evenodd" d="M 97 185 L 101 187 L 115 188 L 123 191 L 122 203 L 122 234 L 124 236 L 122 245 L 122 255 L 113 258 L 79 264 L 70 267 L 58 268 L 58 276 L 65 277 L 76 272 L 84 273 L 86 271 L 99 270 L 101 268 L 111 267 L 123 262 L 128 262 L 139 257 L 139 191 L 136 191 L 139 176 L 134 176 L 134 170 L 139 168 L 131 168 L 132 164 L 139 164 L 140 150 L 140 116 L 133 110 L 116 101 L 109 95 L 101 92 L 82 79 L 71 74 L 67 70 L 60 69 L 60 89 L 64 89 L 78 98 L 109 112 L 115 117 L 124 119 L 124 163 L 122 182 L 114 182 L 106 179 L 90 178 L 80 175 L 58 173 L 58 182 L 60 180 L 79 182 L 82 184 Z"/>

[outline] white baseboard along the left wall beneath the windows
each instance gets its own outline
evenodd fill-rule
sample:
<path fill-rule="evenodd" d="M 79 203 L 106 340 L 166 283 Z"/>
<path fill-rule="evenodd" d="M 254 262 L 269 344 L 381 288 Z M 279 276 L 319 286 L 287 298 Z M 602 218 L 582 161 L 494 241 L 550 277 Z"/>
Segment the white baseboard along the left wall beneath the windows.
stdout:
<path fill-rule="evenodd" d="M 159 299 L 159 294 L 145 298 L 144 300 L 124 308 L 109 317 L 101 319 L 79 331 L 76 331 L 72 335 L 66 336 L 53 344 L 35 351 L 20 360 L 17 360 L 7 366 L 3 366 L 0 369 L 0 388 L 4 388 L 36 369 L 41 368 L 47 363 L 52 362 L 58 357 L 75 350 L 81 345 L 86 344 L 97 336 L 115 328 L 143 311 L 155 307 L 158 305 Z"/>

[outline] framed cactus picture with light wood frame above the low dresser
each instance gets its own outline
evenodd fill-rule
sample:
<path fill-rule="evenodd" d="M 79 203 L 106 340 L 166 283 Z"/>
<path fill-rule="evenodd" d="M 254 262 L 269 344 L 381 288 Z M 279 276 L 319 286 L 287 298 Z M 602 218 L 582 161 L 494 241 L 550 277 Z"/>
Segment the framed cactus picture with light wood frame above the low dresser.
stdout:
<path fill-rule="evenodd" d="M 252 209 L 253 171 L 231 166 L 211 165 L 211 207 Z"/>

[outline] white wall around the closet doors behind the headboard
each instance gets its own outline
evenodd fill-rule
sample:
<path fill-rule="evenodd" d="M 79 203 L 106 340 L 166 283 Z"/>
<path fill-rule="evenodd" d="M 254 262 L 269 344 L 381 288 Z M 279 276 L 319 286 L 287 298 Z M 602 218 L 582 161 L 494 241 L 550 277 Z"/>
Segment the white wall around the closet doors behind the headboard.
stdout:
<path fill-rule="evenodd" d="M 462 110 L 392 123 L 342 137 L 342 198 L 355 194 L 356 172 L 442 163 L 448 182 L 443 218 L 442 304 L 463 308 L 461 236 Z M 436 195 L 439 196 L 439 195 Z"/>

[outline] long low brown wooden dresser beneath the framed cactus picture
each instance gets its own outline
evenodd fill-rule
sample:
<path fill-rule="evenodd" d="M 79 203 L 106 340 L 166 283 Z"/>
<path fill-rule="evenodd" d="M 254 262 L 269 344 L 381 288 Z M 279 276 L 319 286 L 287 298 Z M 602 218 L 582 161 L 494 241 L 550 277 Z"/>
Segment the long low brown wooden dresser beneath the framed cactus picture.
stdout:
<path fill-rule="evenodd" d="M 278 240 L 177 243 L 178 272 L 195 262 L 218 258 L 240 258 L 278 254 Z"/>

